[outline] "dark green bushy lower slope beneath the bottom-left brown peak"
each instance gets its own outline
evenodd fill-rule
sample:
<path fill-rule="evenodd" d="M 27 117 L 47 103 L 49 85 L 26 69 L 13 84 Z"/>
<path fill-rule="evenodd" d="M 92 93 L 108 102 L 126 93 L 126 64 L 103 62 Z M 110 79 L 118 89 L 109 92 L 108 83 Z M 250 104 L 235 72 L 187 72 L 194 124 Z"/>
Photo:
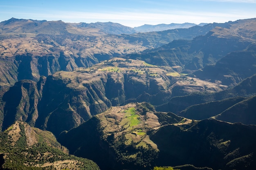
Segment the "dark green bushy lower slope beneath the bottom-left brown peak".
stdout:
<path fill-rule="evenodd" d="M 50 170 L 53 167 L 43 166 L 44 163 L 54 163 L 55 161 L 64 161 L 64 160 L 76 160 L 79 162 L 76 168 L 80 170 L 93 170 L 95 164 L 88 160 L 72 155 L 67 155 L 61 150 L 47 146 L 45 143 L 35 144 L 26 149 L 13 148 L 7 154 L 7 159 L 5 159 L 3 168 L 5 169 L 25 169 L 29 168 L 31 170 Z M 39 167 L 36 167 L 39 166 Z M 63 164 L 63 168 L 67 167 L 68 164 Z M 93 167 L 94 166 L 94 167 Z"/>

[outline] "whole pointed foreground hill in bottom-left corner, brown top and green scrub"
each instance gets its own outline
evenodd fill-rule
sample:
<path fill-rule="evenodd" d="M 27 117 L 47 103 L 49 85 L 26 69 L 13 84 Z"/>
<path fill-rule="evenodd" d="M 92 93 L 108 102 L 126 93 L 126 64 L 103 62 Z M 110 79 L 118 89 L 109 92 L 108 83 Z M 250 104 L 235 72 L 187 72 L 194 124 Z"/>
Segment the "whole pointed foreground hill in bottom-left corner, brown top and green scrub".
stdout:
<path fill-rule="evenodd" d="M 77 170 L 99 169 L 96 163 L 68 155 L 68 150 L 56 141 L 51 132 L 31 128 L 16 121 L 0 132 L 0 167 L 4 170 Z"/>

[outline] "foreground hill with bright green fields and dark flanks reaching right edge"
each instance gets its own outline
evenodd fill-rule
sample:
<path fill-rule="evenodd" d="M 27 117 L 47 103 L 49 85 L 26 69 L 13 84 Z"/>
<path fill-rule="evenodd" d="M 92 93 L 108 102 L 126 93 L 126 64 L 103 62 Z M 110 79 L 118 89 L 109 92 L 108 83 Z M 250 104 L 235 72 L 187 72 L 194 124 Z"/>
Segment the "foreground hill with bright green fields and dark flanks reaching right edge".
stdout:
<path fill-rule="evenodd" d="M 96 115 L 63 132 L 58 140 L 71 153 L 92 159 L 103 170 L 185 164 L 250 169 L 255 166 L 255 130 L 255 126 L 192 121 L 155 112 L 150 105 L 128 104 Z"/>

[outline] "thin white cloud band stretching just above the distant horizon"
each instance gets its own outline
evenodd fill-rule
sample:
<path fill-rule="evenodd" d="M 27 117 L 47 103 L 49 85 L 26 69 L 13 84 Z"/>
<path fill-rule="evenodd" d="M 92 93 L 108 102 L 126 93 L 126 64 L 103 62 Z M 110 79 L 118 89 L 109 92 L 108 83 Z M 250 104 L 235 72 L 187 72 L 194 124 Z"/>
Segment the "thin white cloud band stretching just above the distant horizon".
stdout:
<path fill-rule="evenodd" d="M 18 13 L 19 16 L 33 16 L 31 19 L 39 20 L 63 20 L 64 22 L 117 22 L 122 25 L 135 27 L 143 24 L 171 24 L 191 22 L 200 24 L 202 22 L 227 22 L 229 20 L 239 20 L 251 18 L 248 14 L 241 15 L 237 11 L 233 13 L 213 13 L 213 12 L 187 12 L 187 11 L 172 11 L 172 13 L 92 13 L 92 12 L 70 12 L 58 11 L 50 14 L 40 13 Z M 51 18 L 51 19 L 49 19 Z"/>

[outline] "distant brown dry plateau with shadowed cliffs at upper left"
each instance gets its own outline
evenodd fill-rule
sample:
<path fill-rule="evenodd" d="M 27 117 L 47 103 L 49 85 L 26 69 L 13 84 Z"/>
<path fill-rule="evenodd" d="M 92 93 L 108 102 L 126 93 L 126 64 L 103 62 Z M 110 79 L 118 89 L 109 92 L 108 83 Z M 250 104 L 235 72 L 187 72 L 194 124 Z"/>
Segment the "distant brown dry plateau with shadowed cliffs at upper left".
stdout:
<path fill-rule="evenodd" d="M 124 37 L 106 35 L 95 28 L 78 28 L 62 21 L 18 20 L 0 23 L 0 57 L 4 70 L 1 84 L 20 79 L 38 80 L 40 75 L 88 67 L 118 55 L 148 47 Z M 5 67 L 11 62 L 11 68 Z"/>

